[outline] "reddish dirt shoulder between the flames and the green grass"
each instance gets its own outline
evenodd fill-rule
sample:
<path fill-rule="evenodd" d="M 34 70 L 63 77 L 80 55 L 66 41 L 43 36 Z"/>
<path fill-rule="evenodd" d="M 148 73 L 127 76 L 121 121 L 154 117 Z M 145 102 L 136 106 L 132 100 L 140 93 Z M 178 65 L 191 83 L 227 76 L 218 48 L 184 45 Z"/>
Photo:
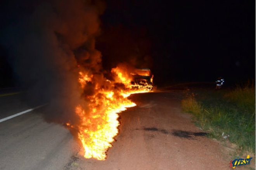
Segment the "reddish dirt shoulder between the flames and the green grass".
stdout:
<path fill-rule="evenodd" d="M 120 113 L 119 134 L 107 159 L 85 159 L 81 151 L 69 169 L 233 169 L 229 155 L 232 148 L 228 151 L 221 142 L 208 139 L 190 115 L 182 113 L 181 97 L 182 91 L 133 95 L 131 99 L 137 106 Z M 255 161 L 251 163 L 255 165 Z M 247 168 L 248 165 L 236 167 Z"/>

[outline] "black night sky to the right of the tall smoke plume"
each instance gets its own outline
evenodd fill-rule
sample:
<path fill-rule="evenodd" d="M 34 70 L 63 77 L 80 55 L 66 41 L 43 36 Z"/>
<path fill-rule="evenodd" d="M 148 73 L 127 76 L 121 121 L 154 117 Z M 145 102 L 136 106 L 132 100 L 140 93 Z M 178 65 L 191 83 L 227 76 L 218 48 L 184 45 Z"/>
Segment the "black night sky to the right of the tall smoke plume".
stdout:
<path fill-rule="evenodd" d="M 158 85 L 255 79 L 254 0 L 107 0 L 100 22 L 96 48 L 107 70 L 149 67 Z M 12 86 L 6 56 L 1 47 L 1 86 Z"/>

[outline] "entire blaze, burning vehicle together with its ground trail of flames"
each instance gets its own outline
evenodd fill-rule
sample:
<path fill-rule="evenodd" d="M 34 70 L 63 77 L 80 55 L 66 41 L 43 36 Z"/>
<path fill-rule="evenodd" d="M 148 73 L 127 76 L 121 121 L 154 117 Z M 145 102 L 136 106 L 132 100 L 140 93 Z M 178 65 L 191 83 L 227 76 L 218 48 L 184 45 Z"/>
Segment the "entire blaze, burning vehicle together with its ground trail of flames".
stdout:
<path fill-rule="evenodd" d="M 118 113 L 136 106 L 128 97 L 135 93 L 149 93 L 153 88 L 150 69 L 128 69 L 118 65 L 111 69 L 111 74 L 111 80 L 102 76 L 99 81 L 97 74 L 79 72 L 81 90 L 85 92 L 92 88 L 93 93 L 86 93 L 86 102 L 75 108 L 80 122 L 67 122 L 66 125 L 78 130 L 85 158 L 106 160 L 106 152 L 118 134 Z M 123 88 L 116 88 L 116 84 L 123 84 Z"/>

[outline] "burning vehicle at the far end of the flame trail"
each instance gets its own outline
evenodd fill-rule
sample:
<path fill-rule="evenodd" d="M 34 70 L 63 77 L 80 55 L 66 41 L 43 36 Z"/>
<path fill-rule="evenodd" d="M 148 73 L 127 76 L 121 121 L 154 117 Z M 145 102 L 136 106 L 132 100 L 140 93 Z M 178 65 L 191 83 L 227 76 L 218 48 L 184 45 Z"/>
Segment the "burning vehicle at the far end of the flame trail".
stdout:
<path fill-rule="evenodd" d="M 150 69 L 136 69 L 133 73 L 131 86 L 133 89 L 153 89 L 153 74 Z"/>

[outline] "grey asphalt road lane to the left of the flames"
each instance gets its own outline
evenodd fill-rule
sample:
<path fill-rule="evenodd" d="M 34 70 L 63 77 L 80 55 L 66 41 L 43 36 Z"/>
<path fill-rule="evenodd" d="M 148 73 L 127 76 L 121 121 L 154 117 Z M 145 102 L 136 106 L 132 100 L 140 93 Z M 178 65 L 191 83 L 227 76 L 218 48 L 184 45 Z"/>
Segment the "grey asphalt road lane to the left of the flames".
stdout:
<path fill-rule="evenodd" d="M 22 93 L 4 92 L 1 119 L 29 109 Z M 63 170 L 72 161 L 78 143 L 65 127 L 45 122 L 42 112 L 38 108 L 0 123 L 1 170 Z"/>

